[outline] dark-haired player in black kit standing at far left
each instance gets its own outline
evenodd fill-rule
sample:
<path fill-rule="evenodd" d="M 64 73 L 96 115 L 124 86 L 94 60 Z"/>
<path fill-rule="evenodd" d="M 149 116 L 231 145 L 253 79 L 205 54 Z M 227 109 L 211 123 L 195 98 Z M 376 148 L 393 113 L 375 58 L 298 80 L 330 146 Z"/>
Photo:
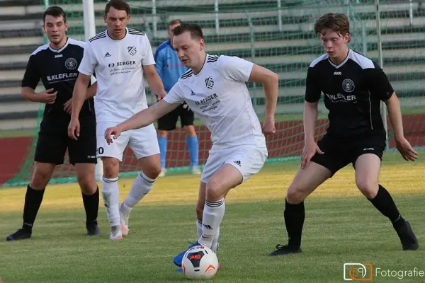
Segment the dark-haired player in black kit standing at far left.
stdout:
<path fill-rule="evenodd" d="M 64 162 L 65 151 L 75 166 L 86 210 L 87 235 L 100 233 L 97 224 L 99 193 L 94 178 L 96 166 L 96 119 L 93 96 L 96 86 L 87 91 L 87 99 L 79 115 L 79 139 L 68 137 L 71 120 L 72 91 L 78 76 L 78 66 L 84 53 L 84 42 L 69 39 L 68 23 L 62 8 L 52 6 L 42 15 L 44 30 L 50 42 L 31 54 L 21 85 L 26 100 L 45 103 L 45 110 L 35 149 L 34 171 L 28 184 L 23 208 L 23 226 L 6 237 L 7 241 L 30 238 L 35 216 L 42 202 L 45 187 L 56 165 Z M 42 81 L 45 91 L 35 93 Z"/>

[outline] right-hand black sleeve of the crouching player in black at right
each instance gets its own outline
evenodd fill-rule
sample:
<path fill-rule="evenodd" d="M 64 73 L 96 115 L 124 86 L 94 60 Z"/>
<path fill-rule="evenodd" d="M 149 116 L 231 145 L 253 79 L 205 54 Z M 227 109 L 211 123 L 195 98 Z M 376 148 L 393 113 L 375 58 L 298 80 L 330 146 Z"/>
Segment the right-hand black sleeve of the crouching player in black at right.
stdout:
<path fill-rule="evenodd" d="M 376 64 L 373 69 L 365 69 L 365 76 L 368 78 L 370 95 L 378 97 L 380 100 L 387 100 L 394 93 L 394 89 L 391 86 L 390 80 L 388 79 L 385 72 Z"/>

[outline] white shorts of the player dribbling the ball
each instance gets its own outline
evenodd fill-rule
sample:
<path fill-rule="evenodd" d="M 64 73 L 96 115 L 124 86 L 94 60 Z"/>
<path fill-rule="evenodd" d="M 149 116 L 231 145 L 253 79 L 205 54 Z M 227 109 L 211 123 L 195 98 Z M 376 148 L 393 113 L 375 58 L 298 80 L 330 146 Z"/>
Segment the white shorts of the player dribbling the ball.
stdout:
<path fill-rule="evenodd" d="M 240 171 L 243 181 L 259 173 L 268 155 L 266 142 L 240 146 L 216 146 L 210 149 L 200 181 L 208 183 L 223 165 L 232 164 Z"/>

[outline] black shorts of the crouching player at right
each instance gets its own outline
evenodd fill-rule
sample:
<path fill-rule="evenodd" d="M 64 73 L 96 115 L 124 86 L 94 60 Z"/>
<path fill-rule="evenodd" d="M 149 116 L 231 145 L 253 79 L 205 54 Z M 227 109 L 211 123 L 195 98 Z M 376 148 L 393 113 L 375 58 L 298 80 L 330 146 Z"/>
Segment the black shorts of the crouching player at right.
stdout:
<path fill-rule="evenodd" d="M 375 154 L 382 160 L 386 143 L 385 136 L 382 135 L 369 135 L 357 139 L 338 139 L 325 134 L 317 142 L 317 145 L 324 154 L 314 154 L 311 161 L 328 168 L 334 175 L 348 163 L 352 163 L 354 166 L 358 156 L 363 154 Z"/>

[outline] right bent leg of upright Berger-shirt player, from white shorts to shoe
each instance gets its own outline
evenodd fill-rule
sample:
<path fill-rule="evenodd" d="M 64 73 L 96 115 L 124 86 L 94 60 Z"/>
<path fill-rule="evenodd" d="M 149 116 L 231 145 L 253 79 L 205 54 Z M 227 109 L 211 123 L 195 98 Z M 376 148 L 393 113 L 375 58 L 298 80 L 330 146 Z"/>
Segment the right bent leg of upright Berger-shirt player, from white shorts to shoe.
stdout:
<path fill-rule="evenodd" d="M 129 146 L 139 160 L 142 172 L 135 178 L 128 196 L 120 205 L 120 219 L 123 235 L 127 235 L 131 209 L 147 195 L 161 173 L 159 146 L 153 125 L 129 132 Z"/>

